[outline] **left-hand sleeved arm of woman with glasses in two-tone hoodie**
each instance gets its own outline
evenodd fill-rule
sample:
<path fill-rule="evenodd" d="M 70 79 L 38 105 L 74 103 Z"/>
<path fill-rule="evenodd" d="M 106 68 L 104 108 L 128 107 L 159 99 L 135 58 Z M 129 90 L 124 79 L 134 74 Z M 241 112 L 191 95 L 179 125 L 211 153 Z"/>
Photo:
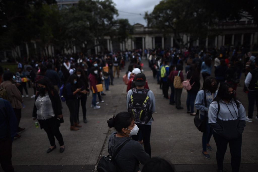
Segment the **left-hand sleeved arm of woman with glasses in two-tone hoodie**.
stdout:
<path fill-rule="evenodd" d="M 223 131 L 223 128 L 217 123 L 217 113 L 218 108 L 215 106 L 215 103 L 211 103 L 208 111 L 208 122 L 215 132 L 220 134 Z"/>

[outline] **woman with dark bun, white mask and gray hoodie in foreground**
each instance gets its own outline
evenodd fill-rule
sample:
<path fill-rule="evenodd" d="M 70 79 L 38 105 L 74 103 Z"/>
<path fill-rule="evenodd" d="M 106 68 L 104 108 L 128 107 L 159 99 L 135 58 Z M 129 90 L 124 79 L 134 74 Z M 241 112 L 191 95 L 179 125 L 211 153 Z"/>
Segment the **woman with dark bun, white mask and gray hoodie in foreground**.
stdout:
<path fill-rule="evenodd" d="M 134 116 L 129 112 L 120 112 L 108 121 L 108 127 L 115 127 L 108 141 L 108 153 L 112 155 L 116 148 L 127 142 L 117 153 L 115 162 L 120 171 L 135 172 L 140 171 L 138 162 L 145 164 L 149 155 L 144 151 L 139 142 L 130 137 L 137 135 L 139 128 L 134 124 Z M 128 141 L 129 140 L 129 141 Z"/>

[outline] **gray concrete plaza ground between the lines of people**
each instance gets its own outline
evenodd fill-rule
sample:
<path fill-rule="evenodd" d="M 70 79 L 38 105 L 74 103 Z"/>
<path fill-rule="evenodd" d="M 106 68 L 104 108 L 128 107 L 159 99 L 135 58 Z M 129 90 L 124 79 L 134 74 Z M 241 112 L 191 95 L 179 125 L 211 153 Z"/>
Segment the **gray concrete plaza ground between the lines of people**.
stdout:
<path fill-rule="evenodd" d="M 181 101 L 183 110 L 177 110 L 169 105 L 169 101 L 163 98 L 162 90 L 159 89 L 156 79 L 148 68 L 148 62 L 143 60 L 144 74 L 147 77 L 150 89 L 156 98 L 156 112 L 153 114 L 154 122 L 151 131 L 152 157 L 161 157 L 171 162 L 176 171 L 216 171 L 216 145 L 213 137 L 210 145 L 213 150 L 209 151 L 211 159 L 205 159 L 201 154 L 201 137 L 194 123 L 193 116 L 186 113 L 187 92 L 183 90 Z M 128 65 L 128 64 L 127 64 Z M 20 127 L 26 131 L 21 133 L 21 138 L 13 142 L 13 166 L 15 171 L 94 171 L 101 156 L 107 155 L 107 140 L 114 130 L 107 126 L 107 119 L 114 114 L 126 109 L 126 85 L 122 81 L 126 69 L 122 70 L 120 78 L 114 79 L 114 86 L 110 86 L 107 95 L 103 96 L 104 103 L 101 108 L 90 108 L 92 96 L 88 97 L 87 120 L 82 122 L 80 108 L 80 124 L 83 126 L 79 131 L 70 131 L 69 110 L 63 102 L 63 115 L 65 123 L 61 124 L 60 131 L 65 142 L 65 151 L 59 153 L 58 149 L 47 154 L 46 150 L 50 143 L 44 130 L 35 128 L 32 120 L 34 100 L 25 98 L 25 108 L 22 109 Z M 201 80 L 201 83 L 203 81 Z M 244 76 L 241 78 L 241 86 L 237 88 L 237 96 L 243 103 L 246 114 L 248 112 L 247 94 L 244 93 Z M 202 85 L 202 84 L 201 84 Z M 29 95 L 33 90 L 29 88 Z M 170 91 L 169 91 L 170 93 Z M 256 108 L 255 108 L 256 110 Z M 257 111 L 254 112 L 256 114 Z M 255 115 L 254 115 L 255 118 Z M 242 142 L 241 172 L 258 171 L 258 121 L 247 122 Z M 231 171 L 229 148 L 224 158 L 224 170 Z M 0 169 L 2 172 L 2 169 Z"/>

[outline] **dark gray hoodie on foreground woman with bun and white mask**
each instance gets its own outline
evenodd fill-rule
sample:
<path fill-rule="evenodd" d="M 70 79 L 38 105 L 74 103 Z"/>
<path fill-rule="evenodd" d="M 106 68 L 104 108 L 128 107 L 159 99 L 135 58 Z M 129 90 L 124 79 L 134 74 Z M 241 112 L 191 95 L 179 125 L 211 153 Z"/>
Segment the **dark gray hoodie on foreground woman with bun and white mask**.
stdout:
<path fill-rule="evenodd" d="M 109 137 L 108 141 L 108 153 L 112 155 L 119 145 L 123 144 L 130 137 L 116 137 L 117 132 L 113 132 Z M 139 142 L 130 140 L 126 143 L 123 148 L 118 152 L 115 161 L 123 172 L 134 172 L 135 166 L 136 171 L 139 171 L 138 161 L 145 164 L 150 159 L 150 156 L 144 151 L 143 147 Z M 137 164 L 136 164 L 137 163 Z"/>

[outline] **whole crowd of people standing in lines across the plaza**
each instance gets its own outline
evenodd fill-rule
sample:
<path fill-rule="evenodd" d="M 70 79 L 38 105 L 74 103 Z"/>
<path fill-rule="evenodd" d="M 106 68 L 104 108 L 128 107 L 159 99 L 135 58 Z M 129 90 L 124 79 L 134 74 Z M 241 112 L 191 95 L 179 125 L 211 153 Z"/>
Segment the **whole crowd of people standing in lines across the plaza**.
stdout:
<path fill-rule="evenodd" d="M 201 141 L 203 156 L 211 158 L 207 150 L 212 150 L 209 141 L 213 135 L 217 147 L 218 171 L 223 171 L 223 159 L 228 143 L 230 150 L 235 150 L 231 151 L 232 171 L 239 171 L 245 121 L 253 121 L 255 102 L 258 108 L 258 58 L 250 52 L 238 54 L 233 51 L 231 54 L 224 47 L 219 51 L 214 49 L 210 52 L 198 48 L 171 48 L 30 59 L 25 64 L 19 61 L 17 73 L 12 73 L 8 69 L 0 71 L 1 75 L 3 74 L 3 81 L 0 79 L 0 95 L 5 99 L 0 100 L 0 108 L 5 107 L 1 110 L 5 116 L 9 116 L 7 119 L 1 117 L 1 124 L 6 121 L 8 123 L 1 125 L 1 146 L 10 148 L 13 139 L 20 138 L 20 133 L 25 131 L 25 128 L 19 127 L 20 119 L 24 108 L 23 101 L 30 97 L 35 99 L 33 120 L 37 119 L 50 142 L 47 153 L 57 148 L 55 138 L 62 153 L 65 150 L 59 130 L 60 124 L 63 123 L 62 101 L 66 102 L 70 112 L 70 130 L 79 130 L 82 127 L 80 121 L 88 122 L 88 95 L 92 94 L 91 108 L 100 109 L 106 95 L 104 91 L 109 91 L 109 86 L 114 85 L 114 78 L 119 78 L 120 71 L 129 63 L 128 70 L 123 76 L 123 81 L 127 85 L 128 112 L 120 112 L 107 121 L 110 128 L 116 129 L 109 138 L 109 154 L 117 153 L 116 149 L 122 146 L 116 160 L 122 171 L 139 171 L 139 162 L 146 164 L 143 171 L 149 171 L 155 162 L 167 165 L 171 171 L 171 165 L 165 160 L 151 158 L 150 135 L 151 124 L 154 121 L 152 114 L 155 112 L 155 96 L 149 89 L 143 73 L 144 58 L 148 60 L 153 77 L 157 78 L 157 84 L 170 105 L 175 105 L 178 110 L 184 109 L 181 95 L 183 89 L 187 90 L 186 113 L 192 116 L 200 115 L 205 124 Z M 236 99 L 236 89 L 240 85 L 242 72 L 245 73 L 246 79 L 245 83 L 241 84 L 245 85 L 243 91 L 248 93 L 249 101 L 247 117 L 242 103 Z M 28 95 L 27 86 L 33 88 L 33 95 Z M 168 94 L 169 88 L 171 94 Z M 26 95 L 23 94 L 23 89 Z M 83 120 L 80 120 L 80 105 Z M 6 112 L 6 109 L 11 110 Z M 9 112 L 10 115 L 7 114 Z M 255 119 L 258 120 L 258 114 Z M 11 160 L 11 154 L 7 150 L 1 152 L 1 157 L 3 154 Z M 13 171 L 8 158 L 1 159 L 1 166 L 4 171 Z"/>

